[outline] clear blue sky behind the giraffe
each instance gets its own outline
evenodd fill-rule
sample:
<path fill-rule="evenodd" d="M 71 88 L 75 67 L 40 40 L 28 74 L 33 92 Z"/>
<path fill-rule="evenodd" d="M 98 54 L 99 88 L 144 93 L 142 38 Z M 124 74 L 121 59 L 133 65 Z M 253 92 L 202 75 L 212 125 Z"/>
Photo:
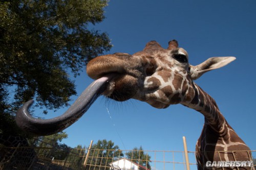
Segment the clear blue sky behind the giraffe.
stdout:
<path fill-rule="evenodd" d="M 106 32 L 114 45 L 106 54 L 141 51 L 150 40 L 167 47 L 176 39 L 197 65 L 207 58 L 235 56 L 237 60 L 202 76 L 196 83 L 219 105 L 228 123 L 256 150 L 256 1 L 111 1 L 103 22 L 94 28 Z M 82 74 L 74 79 L 80 94 L 93 80 Z M 73 79 L 73 78 L 72 78 Z M 74 96 L 73 99 L 76 99 Z M 71 102 L 73 103 L 73 101 Z M 111 117 L 107 109 L 109 110 Z M 67 108 L 48 115 L 54 117 Z M 124 103 L 100 97 L 74 125 L 65 130 L 63 140 L 71 147 L 88 145 L 91 140 L 112 140 L 121 149 L 142 145 L 144 150 L 195 151 L 204 117 L 182 105 L 155 109 L 146 103 Z"/>

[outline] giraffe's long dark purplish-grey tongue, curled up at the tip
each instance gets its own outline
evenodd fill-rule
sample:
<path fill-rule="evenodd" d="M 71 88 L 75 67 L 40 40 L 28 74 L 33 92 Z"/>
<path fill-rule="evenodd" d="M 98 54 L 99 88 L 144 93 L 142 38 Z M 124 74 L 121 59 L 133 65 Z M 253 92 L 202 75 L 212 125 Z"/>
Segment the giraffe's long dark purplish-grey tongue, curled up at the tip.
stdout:
<path fill-rule="evenodd" d="M 16 113 L 16 124 L 19 128 L 34 135 L 51 135 L 60 132 L 75 123 L 106 89 L 106 84 L 114 77 L 109 74 L 91 83 L 78 97 L 73 105 L 62 115 L 50 119 L 32 117 L 28 109 L 33 104 L 30 100 Z"/>

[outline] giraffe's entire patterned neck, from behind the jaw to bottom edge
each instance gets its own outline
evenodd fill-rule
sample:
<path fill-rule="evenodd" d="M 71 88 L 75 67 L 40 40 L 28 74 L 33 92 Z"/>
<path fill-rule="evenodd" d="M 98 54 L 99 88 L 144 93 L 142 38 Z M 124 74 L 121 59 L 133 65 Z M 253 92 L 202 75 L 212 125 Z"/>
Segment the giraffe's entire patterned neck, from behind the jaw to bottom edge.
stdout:
<path fill-rule="evenodd" d="M 193 100 L 183 105 L 199 111 L 205 117 L 205 124 L 196 145 L 198 169 L 208 169 L 205 165 L 209 160 L 251 161 L 250 148 L 226 122 L 215 100 L 196 84 L 194 92 Z"/>

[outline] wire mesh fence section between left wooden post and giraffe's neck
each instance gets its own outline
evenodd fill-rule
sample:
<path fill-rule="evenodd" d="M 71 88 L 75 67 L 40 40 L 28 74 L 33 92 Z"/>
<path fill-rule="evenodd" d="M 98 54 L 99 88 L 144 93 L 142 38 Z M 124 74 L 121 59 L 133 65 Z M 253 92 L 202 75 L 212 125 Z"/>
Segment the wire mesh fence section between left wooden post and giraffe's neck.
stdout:
<path fill-rule="evenodd" d="M 143 151 L 145 157 L 140 158 L 140 150 L 91 150 L 87 169 L 185 169 L 183 151 Z M 190 152 L 190 165 L 195 166 L 195 153 Z M 122 156 L 123 155 L 123 156 Z"/>

